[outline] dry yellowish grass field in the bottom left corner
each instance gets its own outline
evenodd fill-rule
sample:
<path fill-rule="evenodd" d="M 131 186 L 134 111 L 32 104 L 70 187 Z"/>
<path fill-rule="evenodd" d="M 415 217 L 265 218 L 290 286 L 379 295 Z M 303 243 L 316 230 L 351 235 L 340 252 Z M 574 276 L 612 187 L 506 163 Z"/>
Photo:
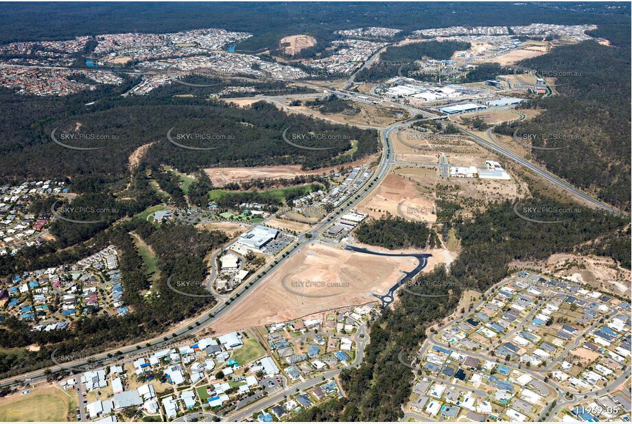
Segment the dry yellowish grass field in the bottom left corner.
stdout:
<path fill-rule="evenodd" d="M 0 399 L 0 421 L 68 421 L 74 418 L 77 402 L 76 393 L 54 386 L 17 392 Z"/>

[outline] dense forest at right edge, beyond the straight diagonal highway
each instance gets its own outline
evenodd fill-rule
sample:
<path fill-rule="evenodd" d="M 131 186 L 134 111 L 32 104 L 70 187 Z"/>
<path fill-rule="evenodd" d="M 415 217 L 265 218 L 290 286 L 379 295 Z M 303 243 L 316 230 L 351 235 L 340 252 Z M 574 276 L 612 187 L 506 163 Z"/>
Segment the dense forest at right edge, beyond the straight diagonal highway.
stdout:
<path fill-rule="evenodd" d="M 606 36 L 610 32 L 595 32 L 596 36 L 601 34 Z M 524 107 L 543 109 L 543 113 L 526 123 L 497 126 L 495 131 L 511 135 L 518 130 L 519 137 L 551 134 L 547 139 L 535 139 L 534 145 L 561 149 L 534 149 L 531 154 L 535 161 L 629 213 L 632 185 L 629 36 L 620 45 L 586 41 L 558 47 L 521 64 L 543 75 L 560 75 L 554 82 L 559 95 L 533 99 Z"/>

